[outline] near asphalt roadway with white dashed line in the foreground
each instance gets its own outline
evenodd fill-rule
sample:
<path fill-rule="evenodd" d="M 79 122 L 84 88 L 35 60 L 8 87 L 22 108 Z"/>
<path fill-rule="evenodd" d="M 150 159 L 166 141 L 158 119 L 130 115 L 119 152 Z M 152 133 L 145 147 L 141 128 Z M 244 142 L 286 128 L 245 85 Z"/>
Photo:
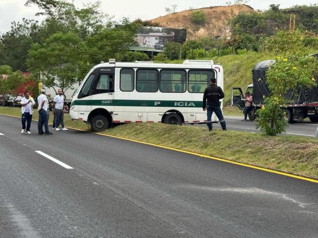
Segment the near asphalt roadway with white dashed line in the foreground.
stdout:
<path fill-rule="evenodd" d="M 34 121 L 20 131 L 0 116 L 1 238 L 318 237 L 317 183 L 92 133 L 37 135 Z"/>

